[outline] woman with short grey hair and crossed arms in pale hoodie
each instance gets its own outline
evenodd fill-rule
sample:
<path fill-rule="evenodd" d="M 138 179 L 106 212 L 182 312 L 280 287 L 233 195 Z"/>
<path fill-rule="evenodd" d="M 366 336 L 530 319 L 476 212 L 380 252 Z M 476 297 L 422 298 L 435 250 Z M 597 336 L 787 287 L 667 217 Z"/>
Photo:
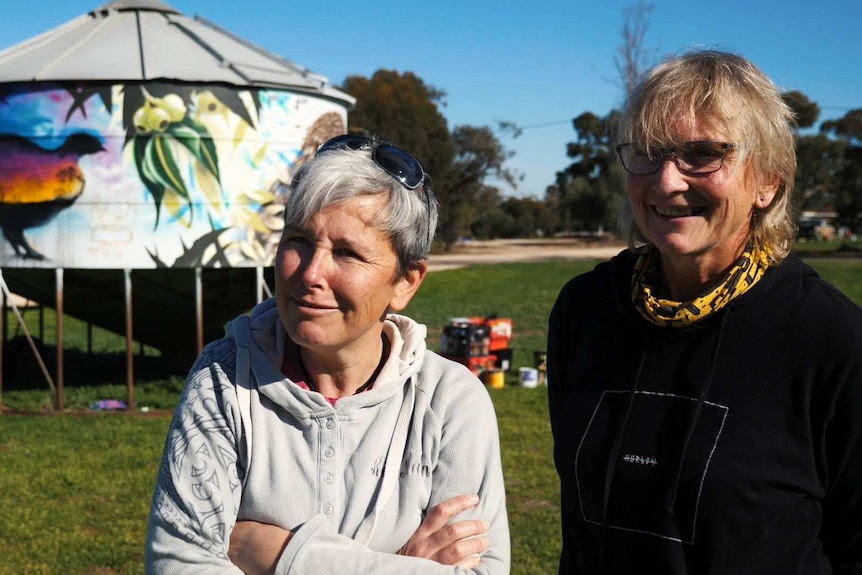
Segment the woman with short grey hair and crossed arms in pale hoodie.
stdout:
<path fill-rule="evenodd" d="M 436 227 L 430 178 L 392 144 L 339 136 L 297 171 L 275 296 L 189 374 L 147 573 L 508 573 L 490 397 L 397 313 Z"/>

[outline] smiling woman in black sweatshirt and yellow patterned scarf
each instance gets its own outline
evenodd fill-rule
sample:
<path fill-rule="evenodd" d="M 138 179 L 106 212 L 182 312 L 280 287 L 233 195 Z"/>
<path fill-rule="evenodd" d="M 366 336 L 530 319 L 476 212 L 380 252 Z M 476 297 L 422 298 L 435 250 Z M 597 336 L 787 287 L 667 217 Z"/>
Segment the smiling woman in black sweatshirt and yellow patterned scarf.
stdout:
<path fill-rule="evenodd" d="M 629 247 L 549 319 L 561 574 L 862 572 L 862 309 L 791 254 L 793 129 L 736 54 L 628 94 Z"/>

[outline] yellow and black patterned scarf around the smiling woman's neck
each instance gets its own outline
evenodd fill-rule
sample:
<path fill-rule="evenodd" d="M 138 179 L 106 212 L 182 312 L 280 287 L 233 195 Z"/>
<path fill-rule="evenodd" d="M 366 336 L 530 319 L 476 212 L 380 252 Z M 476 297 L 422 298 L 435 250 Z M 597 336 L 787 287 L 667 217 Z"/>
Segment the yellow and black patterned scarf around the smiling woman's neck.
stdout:
<path fill-rule="evenodd" d="M 655 246 L 641 252 L 632 277 L 632 301 L 642 316 L 663 327 L 685 327 L 717 312 L 754 287 L 769 267 L 769 253 L 749 246 L 720 284 L 691 301 L 677 302 L 653 294 L 658 281 L 657 260 Z"/>

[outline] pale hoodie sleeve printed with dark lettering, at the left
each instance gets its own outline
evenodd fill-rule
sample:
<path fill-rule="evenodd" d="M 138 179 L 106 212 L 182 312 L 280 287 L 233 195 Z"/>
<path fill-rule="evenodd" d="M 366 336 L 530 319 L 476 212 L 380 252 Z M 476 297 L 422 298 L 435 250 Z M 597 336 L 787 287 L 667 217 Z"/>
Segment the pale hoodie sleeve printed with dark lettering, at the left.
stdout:
<path fill-rule="evenodd" d="M 192 368 L 165 442 L 150 510 L 150 574 L 235 574 L 230 533 L 242 494 L 233 384 L 205 357 Z"/>

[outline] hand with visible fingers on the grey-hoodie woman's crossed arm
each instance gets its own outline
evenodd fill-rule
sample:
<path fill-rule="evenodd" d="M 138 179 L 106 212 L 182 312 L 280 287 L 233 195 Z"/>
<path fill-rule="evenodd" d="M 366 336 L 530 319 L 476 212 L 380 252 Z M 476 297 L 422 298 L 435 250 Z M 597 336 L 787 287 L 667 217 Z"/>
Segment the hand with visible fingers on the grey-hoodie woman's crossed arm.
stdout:
<path fill-rule="evenodd" d="M 435 506 L 422 521 L 399 555 L 433 559 L 443 565 L 472 569 L 479 565 L 479 553 L 490 545 L 487 537 L 489 525 L 480 519 L 450 520 L 479 503 L 478 495 L 461 495 Z"/>

